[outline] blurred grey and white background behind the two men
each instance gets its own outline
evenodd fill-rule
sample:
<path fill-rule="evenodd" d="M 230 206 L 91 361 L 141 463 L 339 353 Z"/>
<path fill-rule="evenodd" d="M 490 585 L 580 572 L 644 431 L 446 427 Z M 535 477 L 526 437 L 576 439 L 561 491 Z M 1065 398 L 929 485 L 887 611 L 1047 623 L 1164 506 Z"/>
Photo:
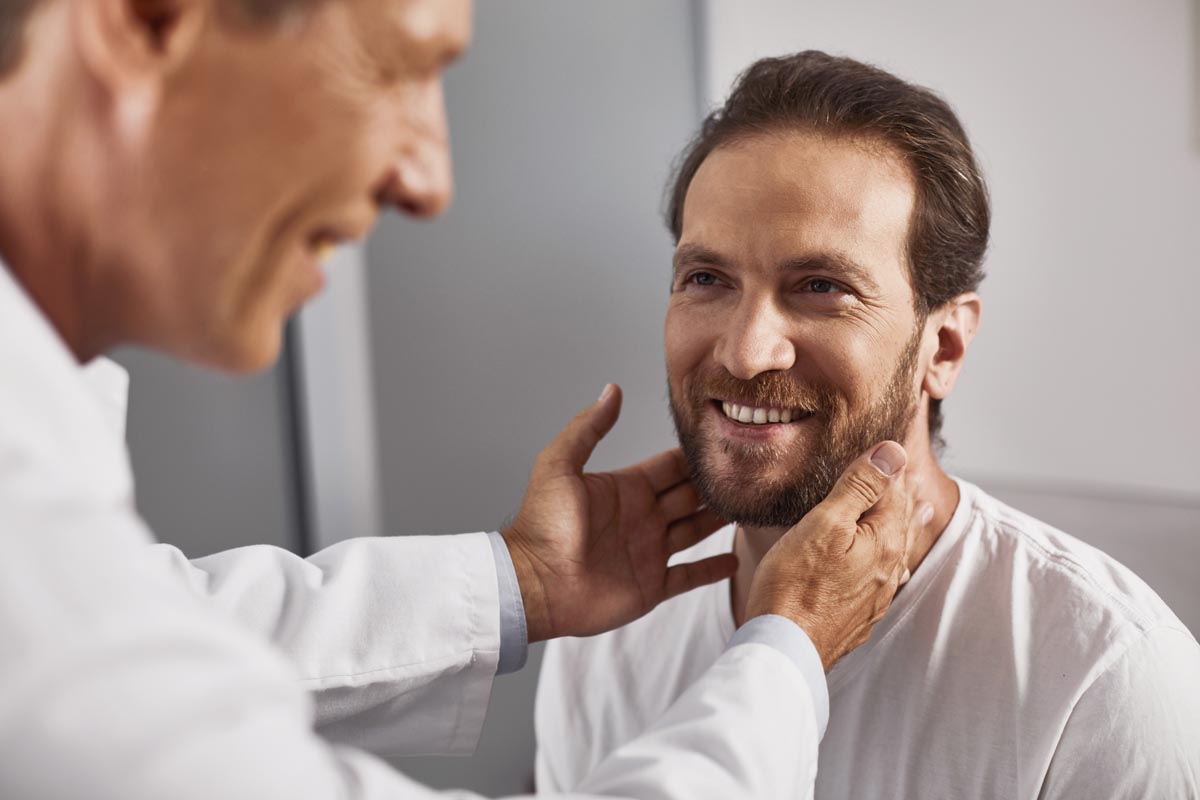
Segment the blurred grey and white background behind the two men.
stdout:
<path fill-rule="evenodd" d="M 995 203 L 948 467 L 1123 560 L 1200 633 L 1200 0 L 506 0 L 446 80 L 433 223 L 338 255 L 274 372 L 127 351 L 143 513 L 192 557 L 504 524 L 606 381 L 593 465 L 673 446 L 662 368 L 670 164 L 752 60 L 808 48 L 930 86 Z M 401 762 L 528 788 L 540 651 L 479 752 Z"/>

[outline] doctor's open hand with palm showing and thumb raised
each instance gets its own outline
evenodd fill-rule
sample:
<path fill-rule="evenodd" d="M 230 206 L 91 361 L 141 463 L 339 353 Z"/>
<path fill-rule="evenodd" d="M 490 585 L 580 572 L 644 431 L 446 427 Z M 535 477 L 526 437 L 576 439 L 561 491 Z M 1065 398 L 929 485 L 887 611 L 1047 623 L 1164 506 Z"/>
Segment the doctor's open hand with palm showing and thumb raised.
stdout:
<path fill-rule="evenodd" d="M 610 384 L 538 456 L 503 531 L 530 642 L 602 633 L 737 569 L 730 553 L 667 567 L 725 524 L 701 509 L 679 450 L 613 473 L 583 471 L 619 414 L 620 389 Z"/>

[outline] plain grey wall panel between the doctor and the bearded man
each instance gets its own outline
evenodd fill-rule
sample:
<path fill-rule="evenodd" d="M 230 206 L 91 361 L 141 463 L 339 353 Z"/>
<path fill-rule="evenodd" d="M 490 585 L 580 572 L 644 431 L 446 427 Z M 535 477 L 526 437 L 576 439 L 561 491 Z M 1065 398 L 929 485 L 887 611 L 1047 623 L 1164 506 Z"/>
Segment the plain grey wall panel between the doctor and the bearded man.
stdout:
<path fill-rule="evenodd" d="M 541 446 L 605 381 L 625 409 L 594 459 L 673 446 L 662 314 L 667 168 L 697 120 L 691 4 L 481 2 L 448 80 L 458 197 L 367 248 L 389 533 L 498 528 Z M 438 786 L 526 788 L 535 664 L 497 682 L 474 759 Z"/>

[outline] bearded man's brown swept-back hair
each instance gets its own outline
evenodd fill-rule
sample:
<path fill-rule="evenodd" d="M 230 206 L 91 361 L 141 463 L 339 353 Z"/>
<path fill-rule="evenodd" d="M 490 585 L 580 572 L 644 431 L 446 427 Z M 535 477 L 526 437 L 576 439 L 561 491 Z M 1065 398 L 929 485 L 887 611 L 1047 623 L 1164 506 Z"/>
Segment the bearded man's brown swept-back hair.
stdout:
<path fill-rule="evenodd" d="M 916 181 L 908 224 L 913 307 L 929 313 L 978 289 L 988 249 L 988 186 L 954 112 L 929 89 L 877 67 L 805 50 L 762 59 L 738 78 L 676 162 L 666 222 L 676 243 L 688 187 L 710 152 L 761 133 L 812 131 L 866 138 L 896 151 Z M 929 433 L 941 444 L 941 401 L 930 399 Z"/>

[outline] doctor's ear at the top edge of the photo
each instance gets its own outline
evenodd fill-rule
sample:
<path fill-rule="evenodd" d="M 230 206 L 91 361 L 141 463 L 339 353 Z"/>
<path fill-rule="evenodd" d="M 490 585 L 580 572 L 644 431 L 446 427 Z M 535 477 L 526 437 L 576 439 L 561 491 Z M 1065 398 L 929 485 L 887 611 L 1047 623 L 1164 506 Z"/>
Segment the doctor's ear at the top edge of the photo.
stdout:
<path fill-rule="evenodd" d="M 72 4 L 72 35 L 95 85 L 118 108 L 157 104 L 164 80 L 193 53 L 212 0 Z"/>

